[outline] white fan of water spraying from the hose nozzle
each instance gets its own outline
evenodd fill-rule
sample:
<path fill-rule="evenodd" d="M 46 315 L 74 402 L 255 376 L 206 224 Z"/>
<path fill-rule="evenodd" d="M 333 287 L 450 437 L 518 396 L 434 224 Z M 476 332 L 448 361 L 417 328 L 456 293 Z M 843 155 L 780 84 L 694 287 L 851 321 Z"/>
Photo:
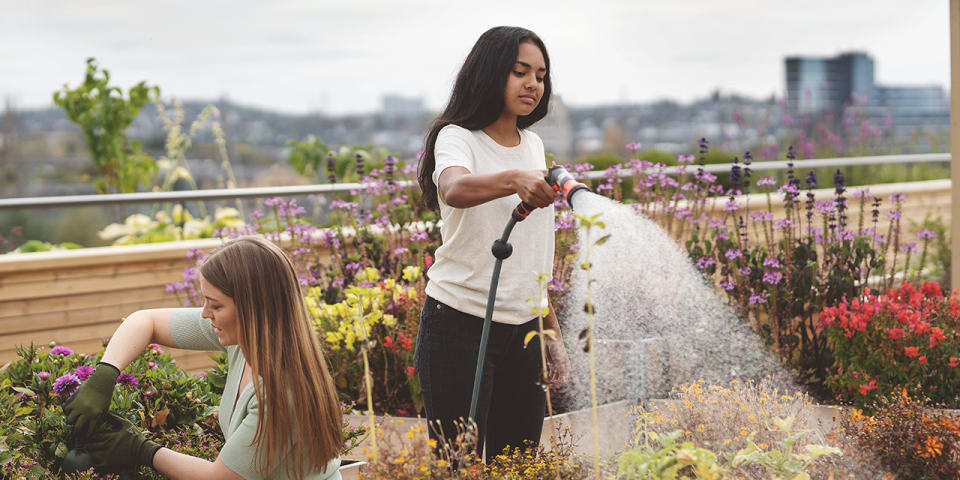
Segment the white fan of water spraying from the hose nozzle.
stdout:
<path fill-rule="evenodd" d="M 606 229 L 592 232 L 592 238 L 611 234 L 592 248 L 589 259 L 601 403 L 663 398 L 674 387 L 701 379 L 726 385 L 735 378 L 769 378 L 783 388 L 796 388 L 757 334 L 656 223 L 591 192 L 576 194 L 574 211 L 601 214 Z M 559 396 L 564 408 L 579 409 L 590 402 L 585 343 L 578 339 L 587 326 L 583 270 L 575 269 L 569 288 L 561 322 L 571 376 Z"/>

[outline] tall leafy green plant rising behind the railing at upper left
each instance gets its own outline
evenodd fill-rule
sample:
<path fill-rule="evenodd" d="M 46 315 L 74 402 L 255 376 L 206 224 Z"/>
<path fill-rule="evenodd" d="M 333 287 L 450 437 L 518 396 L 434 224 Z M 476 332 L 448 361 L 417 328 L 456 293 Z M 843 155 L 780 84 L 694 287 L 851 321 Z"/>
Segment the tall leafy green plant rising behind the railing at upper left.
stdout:
<path fill-rule="evenodd" d="M 150 181 L 156 164 L 141 151 L 140 142 L 128 140 L 123 132 L 140 109 L 160 95 L 160 89 L 140 82 L 124 98 L 123 90 L 109 82 L 110 73 L 99 70 L 96 61 L 88 58 L 83 84 L 75 89 L 64 85 L 53 94 L 53 101 L 83 131 L 90 157 L 100 174 L 93 182 L 97 191 L 134 192 L 138 185 Z"/>

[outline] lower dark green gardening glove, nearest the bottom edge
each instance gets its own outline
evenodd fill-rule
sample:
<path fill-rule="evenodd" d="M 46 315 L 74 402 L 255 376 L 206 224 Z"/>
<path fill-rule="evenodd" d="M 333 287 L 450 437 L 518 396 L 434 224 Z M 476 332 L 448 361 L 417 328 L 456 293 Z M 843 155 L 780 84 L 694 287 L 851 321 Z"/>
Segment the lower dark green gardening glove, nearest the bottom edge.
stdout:
<path fill-rule="evenodd" d="M 160 444 L 151 441 L 133 423 L 116 413 L 107 412 L 104 420 L 109 424 L 107 428 L 94 432 L 85 445 L 98 463 L 153 468 L 153 456 L 160 450 Z"/>

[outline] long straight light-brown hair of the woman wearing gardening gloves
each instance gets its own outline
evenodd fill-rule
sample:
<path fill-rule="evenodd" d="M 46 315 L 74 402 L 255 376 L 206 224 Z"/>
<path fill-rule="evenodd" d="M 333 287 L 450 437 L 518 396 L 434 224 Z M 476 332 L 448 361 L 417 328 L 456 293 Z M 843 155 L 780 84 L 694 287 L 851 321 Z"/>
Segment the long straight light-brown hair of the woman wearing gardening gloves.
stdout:
<path fill-rule="evenodd" d="M 260 405 L 256 468 L 270 474 L 275 457 L 289 452 L 297 478 L 322 470 L 343 447 L 343 416 L 290 258 L 267 240 L 242 237 L 207 257 L 200 273 L 236 305 Z"/>

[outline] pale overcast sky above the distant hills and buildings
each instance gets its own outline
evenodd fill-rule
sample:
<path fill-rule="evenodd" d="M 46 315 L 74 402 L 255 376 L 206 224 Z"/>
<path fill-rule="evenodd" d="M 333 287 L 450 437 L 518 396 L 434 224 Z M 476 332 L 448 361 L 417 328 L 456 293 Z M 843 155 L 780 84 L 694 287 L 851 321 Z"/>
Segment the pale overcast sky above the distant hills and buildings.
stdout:
<path fill-rule="evenodd" d="M 787 55 L 866 51 L 881 84 L 950 82 L 947 0 L 0 0 L 0 97 L 52 105 L 94 56 L 124 89 L 290 113 L 447 100 L 486 29 L 546 42 L 568 104 L 782 96 Z"/>

